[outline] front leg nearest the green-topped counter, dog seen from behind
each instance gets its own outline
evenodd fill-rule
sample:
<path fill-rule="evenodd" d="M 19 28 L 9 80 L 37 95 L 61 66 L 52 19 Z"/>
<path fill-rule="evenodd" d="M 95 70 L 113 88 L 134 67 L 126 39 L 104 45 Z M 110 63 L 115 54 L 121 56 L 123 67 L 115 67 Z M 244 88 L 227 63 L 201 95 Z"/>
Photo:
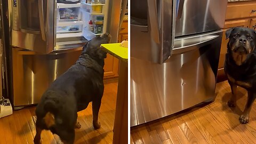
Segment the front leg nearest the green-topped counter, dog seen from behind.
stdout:
<path fill-rule="evenodd" d="M 94 99 L 92 101 L 92 116 L 93 116 L 92 124 L 93 124 L 94 130 L 100 129 L 100 122 L 98 121 L 100 105 L 101 105 L 101 97 L 100 99 Z"/>

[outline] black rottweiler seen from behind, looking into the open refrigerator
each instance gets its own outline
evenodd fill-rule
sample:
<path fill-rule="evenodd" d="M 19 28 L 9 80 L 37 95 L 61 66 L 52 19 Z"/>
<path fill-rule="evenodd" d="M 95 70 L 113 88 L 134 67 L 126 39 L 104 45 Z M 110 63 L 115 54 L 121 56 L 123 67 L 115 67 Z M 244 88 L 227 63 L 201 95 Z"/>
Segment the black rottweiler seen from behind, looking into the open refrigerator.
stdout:
<path fill-rule="evenodd" d="M 100 128 L 98 114 L 104 91 L 103 66 L 107 53 L 100 48 L 111 36 L 103 34 L 91 39 L 82 54 L 64 74 L 58 77 L 42 95 L 36 107 L 35 143 L 41 143 L 42 130 L 59 135 L 63 143 L 74 143 L 77 112 L 92 101 L 93 127 Z"/>

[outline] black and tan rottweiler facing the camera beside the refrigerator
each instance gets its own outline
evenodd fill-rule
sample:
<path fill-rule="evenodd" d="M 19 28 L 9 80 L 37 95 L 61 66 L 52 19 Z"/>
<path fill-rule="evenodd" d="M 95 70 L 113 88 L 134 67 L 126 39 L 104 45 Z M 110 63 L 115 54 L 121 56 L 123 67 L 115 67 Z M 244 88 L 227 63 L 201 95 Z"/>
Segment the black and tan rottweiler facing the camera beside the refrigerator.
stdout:
<path fill-rule="evenodd" d="M 256 32 L 249 28 L 234 27 L 226 31 L 226 38 L 229 38 L 229 42 L 224 70 L 233 93 L 228 106 L 236 105 L 237 86 L 246 89 L 247 103 L 239 117 L 239 122 L 246 124 L 256 98 Z"/>

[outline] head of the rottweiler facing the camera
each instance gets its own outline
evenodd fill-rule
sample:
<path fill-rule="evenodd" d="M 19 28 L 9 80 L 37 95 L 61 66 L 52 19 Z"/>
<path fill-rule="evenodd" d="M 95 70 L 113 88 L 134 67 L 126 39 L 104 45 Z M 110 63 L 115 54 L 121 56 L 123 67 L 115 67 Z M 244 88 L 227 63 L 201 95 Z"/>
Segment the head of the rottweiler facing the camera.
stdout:
<path fill-rule="evenodd" d="M 226 31 L 228 49 L 237 54 L 250 54 L 255 49 L 256 32 L 250 28 L 234 27 Z"/>

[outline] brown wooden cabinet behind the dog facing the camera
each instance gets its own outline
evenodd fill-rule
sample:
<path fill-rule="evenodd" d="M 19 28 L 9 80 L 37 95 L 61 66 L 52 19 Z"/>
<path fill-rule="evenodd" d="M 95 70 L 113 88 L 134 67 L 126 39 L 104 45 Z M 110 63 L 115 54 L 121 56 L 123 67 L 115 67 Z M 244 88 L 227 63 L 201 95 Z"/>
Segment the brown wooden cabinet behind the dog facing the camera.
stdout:
<path fill-rule="evenodd" d="M 256 2 L 233 2 L 228 3 L 226 21 L 222 34 L 220 60 L 218 67 L 218 82 L 225 81 L 224 73 L 225 55 L 227 53 L 226 30 L 232 27 L 250 27 L 256 29 Z"/>

